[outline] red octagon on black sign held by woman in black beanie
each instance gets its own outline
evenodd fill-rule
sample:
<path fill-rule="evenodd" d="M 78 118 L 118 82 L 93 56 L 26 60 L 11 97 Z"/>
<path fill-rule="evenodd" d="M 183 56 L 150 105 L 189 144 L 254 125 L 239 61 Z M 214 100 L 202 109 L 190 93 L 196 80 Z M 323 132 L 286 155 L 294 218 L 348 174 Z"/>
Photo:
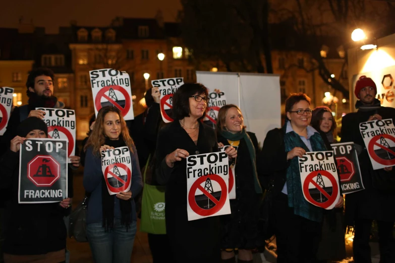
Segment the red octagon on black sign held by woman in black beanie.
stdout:
<path fill-rule="evenodd" d="M 36 186 L 52 186 L 61 177 L 61 165 L 50 155 L 37 155 L 27 164 L 27 178 Z"/>

